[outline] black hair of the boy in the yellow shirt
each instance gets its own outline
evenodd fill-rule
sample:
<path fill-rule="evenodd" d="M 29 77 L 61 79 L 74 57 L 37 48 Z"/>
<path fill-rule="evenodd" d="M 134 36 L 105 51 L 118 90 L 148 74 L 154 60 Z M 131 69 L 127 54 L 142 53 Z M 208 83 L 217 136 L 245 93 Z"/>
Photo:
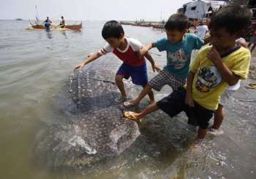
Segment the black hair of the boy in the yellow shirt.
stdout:
<path fill-rule="evenodd" d="M 225 28 L 230 34 L 239 33 L 249 27 L 252 12 L 236 4 L 222 7 L 211 17 L 209 28 Z"/>

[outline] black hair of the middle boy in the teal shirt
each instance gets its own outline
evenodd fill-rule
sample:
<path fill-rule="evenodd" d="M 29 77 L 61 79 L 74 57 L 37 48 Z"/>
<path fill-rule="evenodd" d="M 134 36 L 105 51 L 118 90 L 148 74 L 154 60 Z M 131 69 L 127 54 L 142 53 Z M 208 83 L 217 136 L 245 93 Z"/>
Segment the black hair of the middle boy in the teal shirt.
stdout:
<path fill-rule="evenodd" d="M 165 23 L 165 30 L 178 30 L 184 31 L 189 27 L 189 20 L 186 15 L 181 13 L 176 13 L 171 15 L 167 22 Z"/>

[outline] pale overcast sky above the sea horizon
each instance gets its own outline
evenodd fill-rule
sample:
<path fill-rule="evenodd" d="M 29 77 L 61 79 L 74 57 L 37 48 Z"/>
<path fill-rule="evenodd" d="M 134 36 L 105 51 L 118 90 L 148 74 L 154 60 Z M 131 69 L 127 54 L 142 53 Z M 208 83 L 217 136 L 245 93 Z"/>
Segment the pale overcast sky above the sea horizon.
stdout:
<path fill-rule="evenodd" d="M 0 19 L 160 20 L 189 0 L 0 0 Z"/>

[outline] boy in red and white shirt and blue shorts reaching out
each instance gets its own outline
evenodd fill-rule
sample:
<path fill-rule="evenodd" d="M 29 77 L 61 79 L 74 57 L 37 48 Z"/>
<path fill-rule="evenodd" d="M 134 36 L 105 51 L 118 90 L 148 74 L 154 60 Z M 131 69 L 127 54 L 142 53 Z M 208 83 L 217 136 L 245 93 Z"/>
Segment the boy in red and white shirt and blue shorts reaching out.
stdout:
<path fill-rule="evenodd" d="M 91 63 L 102 55 L 113 52 L 113 54 L 123 61 L 123 64 L 116 73 L 116 85 L 121 92 L 121 96 L 116 99 L 116 102 L 121 103 L 127 99 L 123 79 L 129 79 L 129 77 L 131 77 L 134 84 L 138 84 L 142 87 L 146 87 L 146 84 L 148 83 L 146 61 L 144 57 L 139 55 L 143 45 L 138 40 L 124 36 L 124 29 L 116 20 L 111 20 L 105 23 L 102 28 L 102 37 L 108 44 L 98 52 L 94 52 L 93 55 L 86 58 L 83 63 L 76 65 L 75 69 L 81 70 L 84 65 Z M 150 61 L 153 71 L 159 71 L 159 68 L 155 65 L 151 55 L 146 53 L 145 57 Z M 151 101 L 154 101 L 153 92 L 149 92 L 148 96 Z"/>

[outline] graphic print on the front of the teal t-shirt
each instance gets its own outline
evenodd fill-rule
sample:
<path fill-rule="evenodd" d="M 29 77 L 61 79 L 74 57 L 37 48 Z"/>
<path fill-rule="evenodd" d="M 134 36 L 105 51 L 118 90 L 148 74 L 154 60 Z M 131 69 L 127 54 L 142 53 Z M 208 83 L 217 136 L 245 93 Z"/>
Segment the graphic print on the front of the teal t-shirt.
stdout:
<path fill-rule="evenodd" d="M 167 52 L 167 58 L 171 60 L 168 65 L 173 65 L 176 70 L 184 68 L 189 55 L 186 55 L 183 48 L 178 49 L 176 52 Z"/>

